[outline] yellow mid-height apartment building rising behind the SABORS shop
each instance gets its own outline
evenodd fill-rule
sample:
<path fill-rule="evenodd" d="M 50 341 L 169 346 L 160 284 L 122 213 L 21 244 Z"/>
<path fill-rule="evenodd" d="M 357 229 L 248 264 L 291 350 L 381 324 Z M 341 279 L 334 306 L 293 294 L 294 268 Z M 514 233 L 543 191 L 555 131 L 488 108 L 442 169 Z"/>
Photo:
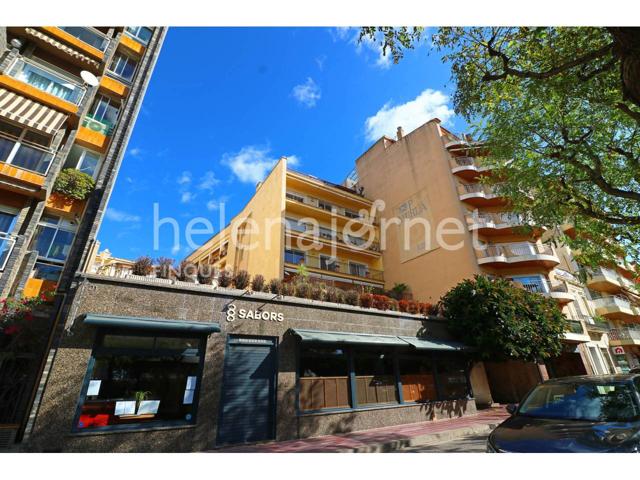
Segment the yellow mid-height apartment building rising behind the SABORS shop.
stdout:
<path fill-rule="evenodd" d="M 304 265 L 311 280 L 382 288 L 379 225 L 355 188 L 291 170 L 282 158 L 229 225 L 187 257 L 216 270 L 288 279 Z"/>

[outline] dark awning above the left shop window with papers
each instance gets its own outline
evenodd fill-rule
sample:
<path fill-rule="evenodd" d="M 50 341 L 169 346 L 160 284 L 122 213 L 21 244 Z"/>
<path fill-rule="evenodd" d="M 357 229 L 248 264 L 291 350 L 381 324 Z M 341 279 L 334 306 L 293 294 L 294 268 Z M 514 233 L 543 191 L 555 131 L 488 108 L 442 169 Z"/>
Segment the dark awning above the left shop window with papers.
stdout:
<path fill-rule="evenodd" d="M 162 318 L 123 317 L 89 313 L 84 319 L 86 325 L 112 328 L 136 328 L 162 330 L 182 333 L 209 334 L 220 331 L 220 325 L 214 322 L 191 322 L 187 320 L 166 320 Z"/>

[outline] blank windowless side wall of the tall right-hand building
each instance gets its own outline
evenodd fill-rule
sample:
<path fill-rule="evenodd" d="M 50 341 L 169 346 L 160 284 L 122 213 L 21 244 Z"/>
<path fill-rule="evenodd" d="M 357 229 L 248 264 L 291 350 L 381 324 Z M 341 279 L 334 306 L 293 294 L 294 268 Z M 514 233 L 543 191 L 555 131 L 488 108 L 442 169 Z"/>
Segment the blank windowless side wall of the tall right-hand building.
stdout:
<path fill-rule="evenodd" d="M 356 161 L 359 184 L 367 198 L 386 202 L 382 220 L 396 216 L 411 201 L 414 216 L 427 219 L 433 232 L 444 218 L 457 218 L 465 225 L 463 234 L 445 237 L 452 244 L 465 241 L 465 248 L 456 251 L 433 248 L 420 252 L 413 243 L 410 252 L 402 252 L 401 228 L 393 225 L 387 229 L 383 254 L 386 287 L 406 283 L 414 298 L 421 301 L 437 301 L 460 280 L 480 271 L 449 161 L 436 121 L 426 123 L 397 142 L 381 139 Z M 418 232 L 418 227 L 414 228 L 412 231 Z M 412 236 L 419 238 L 417 234 Z M 431 243 L 436 247 L 435 235 Z"/>

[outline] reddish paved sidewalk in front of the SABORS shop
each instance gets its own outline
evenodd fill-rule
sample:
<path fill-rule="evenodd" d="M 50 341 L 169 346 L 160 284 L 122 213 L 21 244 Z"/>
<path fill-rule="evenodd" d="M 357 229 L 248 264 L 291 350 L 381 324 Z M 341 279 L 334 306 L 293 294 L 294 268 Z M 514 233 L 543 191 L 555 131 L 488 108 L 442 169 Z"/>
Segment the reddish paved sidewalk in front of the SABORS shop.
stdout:
<path fill-rule="evenodd" d="M 503 407 L 481 410 L 477 415 L 375 428 L 340 435 L 326 435 L 285 442 L 243 445 L 215 452 L 393 452 L 400 448 L 453 440 L 466 435 L 489 433 L 509 414 Z"/>

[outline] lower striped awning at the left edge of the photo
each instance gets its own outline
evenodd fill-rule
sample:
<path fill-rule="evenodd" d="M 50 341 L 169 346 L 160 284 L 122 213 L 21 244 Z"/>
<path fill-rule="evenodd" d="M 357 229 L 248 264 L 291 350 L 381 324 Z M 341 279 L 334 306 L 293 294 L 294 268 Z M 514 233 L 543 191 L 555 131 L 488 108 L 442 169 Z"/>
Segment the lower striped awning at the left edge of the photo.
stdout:
<path fill-rule="evenodd" d="M 67 119 L 62 112 L 4 88 L 0 88 L 0 116 L 49 135 L 54 135 Z"/>

